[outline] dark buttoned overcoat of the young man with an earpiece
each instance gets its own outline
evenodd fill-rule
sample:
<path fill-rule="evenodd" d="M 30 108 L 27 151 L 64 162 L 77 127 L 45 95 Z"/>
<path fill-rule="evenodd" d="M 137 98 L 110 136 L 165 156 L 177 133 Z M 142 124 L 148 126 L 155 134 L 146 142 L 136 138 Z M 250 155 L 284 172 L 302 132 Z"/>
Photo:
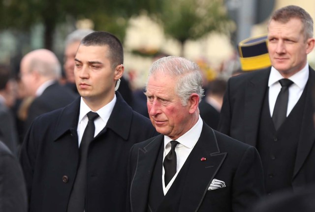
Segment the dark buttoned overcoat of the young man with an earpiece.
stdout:
<path fill-rule="evenodd" d="M 106 127 L 88 152 L 87 212 L 125 212 L 127 160 L 131 146 L 156 131 L 121 95 Z M 38 116 L 21 149 L 31 212 L 65 212 L 79 164 L 77 125 L 80 98 Z"/>

